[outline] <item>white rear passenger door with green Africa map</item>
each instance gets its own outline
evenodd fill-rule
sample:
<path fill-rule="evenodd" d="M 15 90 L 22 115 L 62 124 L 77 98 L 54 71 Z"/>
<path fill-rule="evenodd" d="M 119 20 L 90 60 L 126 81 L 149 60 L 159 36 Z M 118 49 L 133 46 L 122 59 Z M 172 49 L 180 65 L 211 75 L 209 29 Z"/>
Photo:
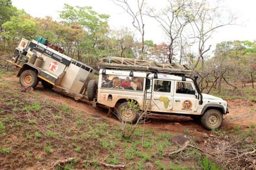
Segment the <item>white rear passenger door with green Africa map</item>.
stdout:
<path fill-rule="evenodd" d="M 173 109 L 173 88 L 170 80 L 153 80 L 153 96 L 151 100 L 151 111 L 170 112 Z"/>

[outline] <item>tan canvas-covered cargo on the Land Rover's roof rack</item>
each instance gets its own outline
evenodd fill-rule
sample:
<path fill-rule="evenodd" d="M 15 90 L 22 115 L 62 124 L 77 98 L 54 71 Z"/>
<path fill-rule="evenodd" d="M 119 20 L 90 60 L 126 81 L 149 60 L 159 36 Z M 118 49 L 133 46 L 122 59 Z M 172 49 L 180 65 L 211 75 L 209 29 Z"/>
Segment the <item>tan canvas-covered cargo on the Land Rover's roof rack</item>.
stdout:
<path fill-rule="evenodd" d="M 192 74 L 186 66 L 179 64 L 160 64 L 155 61 L 138 60 L 135 58 L 122 57 L 103 57 L 98 63 L 101 68 L 137 70 L 137 71 L 154 71 L 158 73 L 171 74 Z"/>

